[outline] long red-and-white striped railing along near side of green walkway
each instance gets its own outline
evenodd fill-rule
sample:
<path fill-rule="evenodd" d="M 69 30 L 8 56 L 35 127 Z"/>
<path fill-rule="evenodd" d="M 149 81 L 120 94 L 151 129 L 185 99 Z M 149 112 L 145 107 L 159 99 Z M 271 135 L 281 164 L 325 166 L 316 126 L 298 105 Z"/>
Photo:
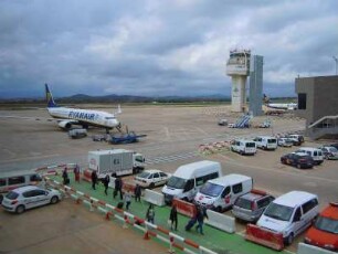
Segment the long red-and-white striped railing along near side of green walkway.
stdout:
<path fill-rule="evenodd" d="M 191 247 L 198 251 L 198 253 L 207 253 L 207 254 L 216 254 L 215 252 L 199 245 L 198 243 L 184 239 L 178 234 L 170 232 L 167 229 L 163 229 L 159 225 L 149 223 L 144 219 L 140 219 L 123 209 L 118 209 L 112 204 L 108 204 L 104 201 L 97 200 L 88 194 L 85 194 L 81 191 L 76 191 L 68 186 L 63 186 L 57 181 L 51 180 L 46 178 L 50 182 L 54 183 L 56 188 L 75 200 L 76 204 L 83 203 L 89 208 L 89 211 L 98 211 L 105 215 L 105 220 L 110 221 L 110 218 L 115 218 L 123 222 L 123 227 L 127 229 L 129 225 L 142 231 L 144 239 L 149 240 L 150 236 L 157 237 L 160 241 L 169 244 L 170 250 L 173 252 L 172 247 L 179 248 L 186 253 L 197 254 L 197 252 L 192 251 Z M 187 245 L 187 246 L 184 246 Z"/>

